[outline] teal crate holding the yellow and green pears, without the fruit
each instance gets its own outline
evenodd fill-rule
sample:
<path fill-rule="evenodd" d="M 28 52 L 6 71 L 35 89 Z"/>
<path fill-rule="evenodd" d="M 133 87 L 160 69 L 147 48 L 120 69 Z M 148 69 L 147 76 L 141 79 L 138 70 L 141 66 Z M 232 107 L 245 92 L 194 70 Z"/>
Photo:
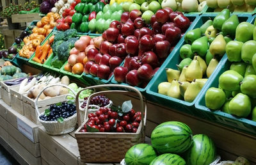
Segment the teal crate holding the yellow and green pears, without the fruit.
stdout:
<path fill-rule="evenodd" d="M 196 22 L 195 26 L 193 26 L 193 29 L 200 28 L 200 26 L 202 26 L 202 24 L 204 24 L 204 22 L 209 20 L 209 18 L 214 19 L 214 17 L 215 16 L 213 16 L 213 15 L 201 15 L 198 22 Z M 239 17 L 239 22 L 246 21 L 250 18 L 251 17 L 249 15 L 246 15 L 246 16 L 243 15 L 243 16 Z M 176 49 L 176 51 L 173 53 L 173 56 L 166 63 L 163 64 L 163 67 L 161 67 L 159 69 L 157 74 L 153 77 L 152 81 L 150 81 L 150 84 L 147 88 L 148 99 L 153 100 L 154 102 L 159 102 L 162 105 L 168 105 L 169 107 L 173 107 L 179 111 L 183 111 L 185 113 L 189 113 L 189 114 L 192 114 L 195 116 L 202 116 L 202 118 L 204 118 L 204 113 L 197 111 L 195 109 L 194 105 L 196 103 L 196 100 L 198 100 L 198 98 L 200 98 L 200 95 L 202 95 L 202 91 L 204 91 L 204 88 L 206 85 L 202 88 L 200 93 L 198 93 L 197 97 L 195 98 L 195 100 L 193 102 L 186 102 L 184 100 L 179 100 L 177 98 L 168 97 L 166 95 L 162 95 L 157 92 L 158 84 L 162 83 L 164 81 L 167 81 L 165 68 L 177 69 L 176 65 L 179 64 L 180 61 L 182 60 L 180 58 L 180 54 L 179 54 L 180 48 L 184 44 L 185 44 L 185 41 L 184 41 L 184 38 L 182 38 L 179 48 Z M 218 68 L 220 68 L 220 66 L 222 65 L 223 60 L 224 59 L 222 58 L 219 61 L 219 64 L 216 67 L 216 69 L 214 70 L 214 72 L 218 71 Z M 209 77 L 208 81 L 205 84 L 212 81 L 214 72 L 212 73 L 212 75 Z"/>

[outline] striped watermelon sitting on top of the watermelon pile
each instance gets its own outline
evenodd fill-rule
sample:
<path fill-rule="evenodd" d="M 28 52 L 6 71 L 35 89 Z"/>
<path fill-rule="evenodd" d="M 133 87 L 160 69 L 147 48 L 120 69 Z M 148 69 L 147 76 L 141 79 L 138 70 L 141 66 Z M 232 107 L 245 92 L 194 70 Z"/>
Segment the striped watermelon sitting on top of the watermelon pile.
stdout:
<path fill-rule="evenodd" d="M 164 122 L 151 134 L 151 143 L 159 153 L 183 153 L 191 146 L 193 135 L 188 125 L 181 122 Z"/>

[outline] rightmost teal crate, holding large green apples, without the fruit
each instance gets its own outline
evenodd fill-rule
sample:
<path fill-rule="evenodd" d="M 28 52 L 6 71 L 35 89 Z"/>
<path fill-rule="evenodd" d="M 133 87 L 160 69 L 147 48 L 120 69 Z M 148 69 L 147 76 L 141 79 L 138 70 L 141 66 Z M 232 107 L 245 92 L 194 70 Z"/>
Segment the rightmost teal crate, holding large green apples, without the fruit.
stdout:
<path fill-rule="evenodd" d="M 196 100 L 195 107 L 200 109 L 204 116 L 206 116 L 207 120 L 210 120 L 214 123 L 220 123 L 221 125 L 225 125 L 227 127 L 231 127 L 232 129 L 236 129 L 242 132 L 246 132 L 248 134 L 256 134 L 256 122 L 249 120 L 247 118 L 237 118 L 232 116 L 231 114 L 224 113 L 223 111 L 211 111 L 209 108 L 205 106 L 205 93 L 211 88 L 218 88 L 219 85 L 219 77 L 223 72 L 229 70 L 231 62 L 228 61 L 227 55 L 224 56 L 223 63 L 219 68 L 218 72 L 212 76 L 211 81 L 206 84 L 204 91 L 202 91 L 200 98 Z"/>

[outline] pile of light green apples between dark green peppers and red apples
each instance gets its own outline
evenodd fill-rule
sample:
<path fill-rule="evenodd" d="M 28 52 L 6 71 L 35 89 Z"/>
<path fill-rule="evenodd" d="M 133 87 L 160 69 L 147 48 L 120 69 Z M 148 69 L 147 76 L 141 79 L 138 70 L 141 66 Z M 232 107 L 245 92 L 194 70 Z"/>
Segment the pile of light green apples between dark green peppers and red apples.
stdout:
<path fill-rule="evenodd" d="M 97 13 L 96 18 L 90 20 L 88 28 L 92 33 L 103 33 L 113 20 L 121 19 L 122 13 L 122 3 L 106 4 L 103 10 Z"/>

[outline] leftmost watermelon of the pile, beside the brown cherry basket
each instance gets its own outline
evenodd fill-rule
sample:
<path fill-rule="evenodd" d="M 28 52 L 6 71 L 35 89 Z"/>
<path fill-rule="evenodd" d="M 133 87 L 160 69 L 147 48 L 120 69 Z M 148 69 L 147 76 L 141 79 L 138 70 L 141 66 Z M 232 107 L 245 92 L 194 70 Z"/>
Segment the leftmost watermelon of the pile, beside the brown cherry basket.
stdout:
<path fill-rule="evenodd" d="M 157 157 L 154 148 L 147 144 L 138 144 L 132 146 L 125 154 L 125 163 L 127 165 L 150 164 Z"/>

